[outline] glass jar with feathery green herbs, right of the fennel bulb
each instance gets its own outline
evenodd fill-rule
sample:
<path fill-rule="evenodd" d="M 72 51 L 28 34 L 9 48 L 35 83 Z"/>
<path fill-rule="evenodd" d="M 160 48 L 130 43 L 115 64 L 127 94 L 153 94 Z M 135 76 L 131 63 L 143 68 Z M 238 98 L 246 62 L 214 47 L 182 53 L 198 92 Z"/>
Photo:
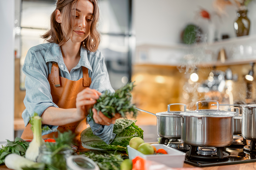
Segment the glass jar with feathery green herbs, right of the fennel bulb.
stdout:
<path fill-rule="evenodd" d="M 66 170 L 66 159 L 72 155 L 73 152 L 72 149 L 67 148 L 55 154 L 52 151 L 47 151 L 45 147 L 40 147 L 37 162 L 52 165 L 60 170 Z"/>

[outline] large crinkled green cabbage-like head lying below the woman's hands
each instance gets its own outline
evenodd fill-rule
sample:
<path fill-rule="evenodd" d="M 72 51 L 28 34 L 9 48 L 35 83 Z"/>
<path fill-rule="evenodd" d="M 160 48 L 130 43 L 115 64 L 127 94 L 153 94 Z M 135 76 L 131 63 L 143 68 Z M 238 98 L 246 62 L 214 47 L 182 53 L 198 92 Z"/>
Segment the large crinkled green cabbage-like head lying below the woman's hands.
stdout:
<path fill-rule="evenodd" d="M 88 127 L 81 133 L 82 146 L 94 150 L 125 151 L 131 138 L 138 136 L 143 139 L 143 130 L 135 125 L 135 122 L 136 120 L 117 119 L 113 129 L 116 136 L 109 145 L 94 135 L 91 128 Z"/>

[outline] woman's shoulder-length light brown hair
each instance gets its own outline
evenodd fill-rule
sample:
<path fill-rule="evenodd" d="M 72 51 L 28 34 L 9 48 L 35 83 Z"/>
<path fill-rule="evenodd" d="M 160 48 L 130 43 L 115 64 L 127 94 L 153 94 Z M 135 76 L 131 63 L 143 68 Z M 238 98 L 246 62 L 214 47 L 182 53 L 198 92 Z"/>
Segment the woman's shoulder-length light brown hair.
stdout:
<path fill-rule="evenodd" d="M 100 33 L 97 30 L 97 24 L 99 20 L 99 5 L 97 0 L 88 0 L 94 5 L 93 20 L 91 22 L 90 33 L 81 45 L 91 51 L 95 52 L 100 44 Z M 72 28 L 74 26 L 75 9 L 78 0 L 58 0 L 56 2 L 56 9 L 51 14 L 51 28 L 45 34 L 41 35 L 50 43 L 56 43 L 59 46 L 66 43 L 72 34 Z M 60 23 L 56 21 L 56 10 L 59 10 L 62 14 L 62 18 L 65 18 L 62 22 L 62 28 Z M 63 30 L 62 30 L 63 29 Z"/>

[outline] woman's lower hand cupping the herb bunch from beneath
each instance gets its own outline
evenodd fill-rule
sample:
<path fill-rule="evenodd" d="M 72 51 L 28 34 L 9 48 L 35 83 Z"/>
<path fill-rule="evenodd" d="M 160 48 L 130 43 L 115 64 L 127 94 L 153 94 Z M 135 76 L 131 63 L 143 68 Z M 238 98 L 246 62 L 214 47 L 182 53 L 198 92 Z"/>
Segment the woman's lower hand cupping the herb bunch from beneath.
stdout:
<path fill-rule="evenodd" d="M 97 113 L 97 110 L 95 108 L 93 108 L 93 119 L 95 121 L 95 123 L 101 124 L 101 125 L 110 125 L 110 124 L 114 124 L 116 119 L 120 118 L 120 114 L 116 113 L 115 116 L 110 119 L 108 117 L 106 117 L 105 115 L 103 115 L 102 112 L 99 112 L 99 115 Z"/>

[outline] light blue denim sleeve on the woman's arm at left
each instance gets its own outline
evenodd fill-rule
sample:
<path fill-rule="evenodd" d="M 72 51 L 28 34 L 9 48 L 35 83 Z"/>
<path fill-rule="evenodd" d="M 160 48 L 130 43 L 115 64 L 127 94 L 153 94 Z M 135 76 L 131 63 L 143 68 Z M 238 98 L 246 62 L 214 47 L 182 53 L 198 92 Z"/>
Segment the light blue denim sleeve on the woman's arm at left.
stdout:
<path fill-rule="evenodd" d="M 28 57 L 28 59 L 30 58 L 30 56 L 26 57 Z M 41 69 L 42 66 L 39 64 L 37 65 L 40 61 L 35 61 L 35 59 L 33 60 L 33 63 L 24 63 L 23 65 L 23 72 L 26 75 L 26 96 L 24 98 L 24 105 L 26 109 L 22 113 L 22 118 L 25 126 L 28 124 L 30 117 L 33 116 L 34 113 L 41 116 L 48 107 L 58 107 L 52 100 L 51 87 L 46 77 L 47 71 L 43 71 Z M 42 135 L 56 132 L 58 128 L 58 126 L 53 125 L 43 126 L 49 126 L 51 130 L 43 132 Z"/>

